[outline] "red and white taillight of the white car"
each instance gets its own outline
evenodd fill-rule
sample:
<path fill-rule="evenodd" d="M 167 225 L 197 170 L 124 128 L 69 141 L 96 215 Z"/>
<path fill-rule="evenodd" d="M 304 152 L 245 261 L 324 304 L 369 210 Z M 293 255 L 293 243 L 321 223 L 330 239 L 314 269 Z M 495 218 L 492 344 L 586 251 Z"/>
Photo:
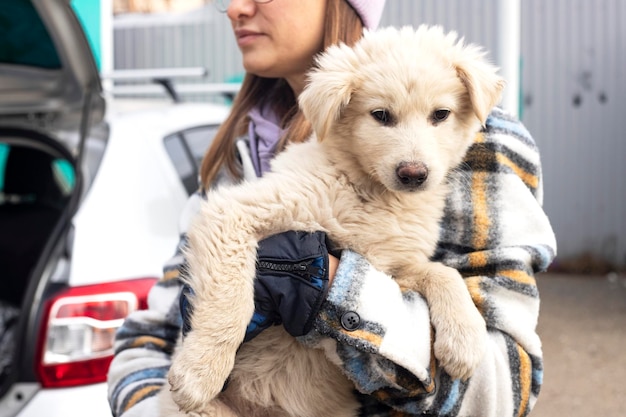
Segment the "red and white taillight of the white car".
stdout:
<path fill-rule="evenodd" d="M 156 278 L 71 287 L 46 303 L 37 374 L 44 387 L 106 381 L 116 330 L 147 307 Z"/>

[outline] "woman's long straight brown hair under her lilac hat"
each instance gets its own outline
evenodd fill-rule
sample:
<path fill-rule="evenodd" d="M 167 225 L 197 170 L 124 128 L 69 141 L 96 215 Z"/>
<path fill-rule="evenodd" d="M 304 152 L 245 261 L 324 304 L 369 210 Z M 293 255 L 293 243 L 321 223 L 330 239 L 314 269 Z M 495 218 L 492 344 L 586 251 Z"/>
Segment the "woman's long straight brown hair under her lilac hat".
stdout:
<path fill-rule="evenodd" d="M 327 0 L 323 47 L 339 42 L 353 45 L 363 32 L 363 24 L 354 9 L 345 0 Z M 293 91 L 282 78 L 262 78 L 246 74 L 233 101 L 229 116 L 220 126 L 213 143 L 202 160 L 200 180 L 208 188 L 222 166 L 236 178 L 241 178 L 240 163 L 235 150 L 236 139 L 248 128 L 248 112 L 267 100 L 274 112 L 282 118 L 286 129 L 278 150 L 287 143 L 303 142 L 311 135 L 311 125 L 298 108 Z"/>

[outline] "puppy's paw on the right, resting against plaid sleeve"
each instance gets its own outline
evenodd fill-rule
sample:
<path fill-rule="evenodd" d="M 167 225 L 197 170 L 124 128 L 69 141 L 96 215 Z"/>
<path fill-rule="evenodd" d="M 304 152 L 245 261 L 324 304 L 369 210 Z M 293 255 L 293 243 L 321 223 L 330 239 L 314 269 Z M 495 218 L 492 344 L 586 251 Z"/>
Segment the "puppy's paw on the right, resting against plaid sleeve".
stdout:
<path fill-rule="evenodd" d="M 462 323 L 439 325 L 435 330 L 434 351 L 439 365 L 453 379 L 467 380 L 487 350 L 485 320 L 474 309 Z"/>

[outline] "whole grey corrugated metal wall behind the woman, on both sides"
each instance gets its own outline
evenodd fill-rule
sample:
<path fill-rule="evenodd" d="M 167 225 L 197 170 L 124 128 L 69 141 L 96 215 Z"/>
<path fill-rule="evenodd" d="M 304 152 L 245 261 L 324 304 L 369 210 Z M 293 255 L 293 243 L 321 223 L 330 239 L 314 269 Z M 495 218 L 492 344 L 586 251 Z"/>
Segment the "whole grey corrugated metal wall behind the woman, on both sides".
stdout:
<path fill-rule="evenodd" d="M 388 0 L 381 25 L 441 24 L 498 62 L 498 0 Z M 559 259 L 588 252 L 626 267 L 626 2 L 522 0 L 522 119 L 543 155 Z M 209 6 L 166 20 L 116 19 L 116 69 L 205 66 L 229 81 L 241 60 Z M 197 97 L 196 97 L 197 99 Z M 202 97 L 201 99 L 207 99 Z"/>

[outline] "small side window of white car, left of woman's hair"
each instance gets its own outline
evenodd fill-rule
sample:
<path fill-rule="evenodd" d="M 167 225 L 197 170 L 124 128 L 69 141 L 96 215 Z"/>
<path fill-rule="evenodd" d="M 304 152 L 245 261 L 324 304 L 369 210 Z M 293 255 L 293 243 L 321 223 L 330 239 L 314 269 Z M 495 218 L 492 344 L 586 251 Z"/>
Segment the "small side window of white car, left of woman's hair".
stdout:
<path fill-rule="evenodd" d="M 218 128 L 218 125 L 194 127 L 176 132 L 164 139 L 165 150 L 187 194 L 192 194 L 198 189 L 202 157 L 211 145 Z"/>

